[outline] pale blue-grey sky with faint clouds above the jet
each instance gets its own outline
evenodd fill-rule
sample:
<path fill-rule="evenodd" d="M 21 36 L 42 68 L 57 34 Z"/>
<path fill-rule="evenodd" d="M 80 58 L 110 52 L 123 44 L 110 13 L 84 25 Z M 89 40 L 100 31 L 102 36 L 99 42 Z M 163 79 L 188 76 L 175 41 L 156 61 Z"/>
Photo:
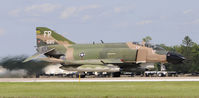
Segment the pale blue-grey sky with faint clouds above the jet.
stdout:
<path fill-rule="evenodd" d="M 31 55 L 35 28 L 49 27 L 76 43 L 199 43 L 199 0 L 0 0 L 0 57 Z"/>

